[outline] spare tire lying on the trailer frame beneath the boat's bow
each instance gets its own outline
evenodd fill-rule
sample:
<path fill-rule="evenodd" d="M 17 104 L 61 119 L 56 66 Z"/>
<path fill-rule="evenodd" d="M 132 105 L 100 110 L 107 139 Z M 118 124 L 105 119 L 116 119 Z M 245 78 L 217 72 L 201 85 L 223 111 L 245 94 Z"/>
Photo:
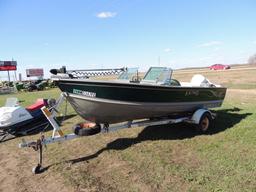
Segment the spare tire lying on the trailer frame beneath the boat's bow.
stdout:
<path fill-rule="evenodd" d="M 95 135 L 101 131 L 101 126 L 95 123 L 79 123 L 73 128 L 74 133 L 79 136 Z"/>

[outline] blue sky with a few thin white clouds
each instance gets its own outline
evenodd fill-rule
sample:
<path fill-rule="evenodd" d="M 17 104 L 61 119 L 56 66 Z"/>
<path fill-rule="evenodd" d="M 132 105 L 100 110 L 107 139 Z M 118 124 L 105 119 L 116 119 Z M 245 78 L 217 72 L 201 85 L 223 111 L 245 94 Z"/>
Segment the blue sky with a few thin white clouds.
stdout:
<path fill-rule="evenodd" d="M 245 63 L 254 0 L 0 0 L 0 60 L 18 72 Z M 1 72 L 0 76 L 6 73 Z"/>

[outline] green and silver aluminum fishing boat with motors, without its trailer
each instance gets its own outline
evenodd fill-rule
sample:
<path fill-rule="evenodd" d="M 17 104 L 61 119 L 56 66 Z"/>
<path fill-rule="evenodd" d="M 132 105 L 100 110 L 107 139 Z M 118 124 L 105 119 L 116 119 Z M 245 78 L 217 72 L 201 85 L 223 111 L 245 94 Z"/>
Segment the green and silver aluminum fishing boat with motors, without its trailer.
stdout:
<path fill-rule="evenodd" d="M 142 79 L 136 69 L 94 71 L 51 70 L 53 80 L 75 111 L 97 124 L 185 115 L 197 109 L 220 107 L 226 94 L 225 87 L 202 75 L 194 75 L 190 82 L 172 79 L 172 70 L 166 67 L 151 67 Z M 117 72 L 121 75 L 116 80 L 88 78 Z"/>

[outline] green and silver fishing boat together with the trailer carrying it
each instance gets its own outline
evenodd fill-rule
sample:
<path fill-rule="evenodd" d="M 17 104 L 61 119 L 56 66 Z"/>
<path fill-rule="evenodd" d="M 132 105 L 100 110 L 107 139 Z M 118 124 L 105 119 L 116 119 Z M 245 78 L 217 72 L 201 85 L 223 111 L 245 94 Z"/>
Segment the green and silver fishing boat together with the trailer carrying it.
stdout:
<path fill-rule="evenodd" d="M 121 75 L 117 80 L 91 79 L 97 75 Z M 206 133 L 213 125 L 215 114 L 208 108 L 221 106 L 226 88 L 215 85 L 202 75 L 195 75 L 190 82 L 180 83 L 172 79 L 172 70 L 151 67 L 141 80 L 137 69 L 76 70 L 53 69 L 53 79 L 62 90 L 52 108 L 41 110 L 53 127 L 51 137 L 43 134 L 37 141 L 23 140 L 19 147 L 32 147 L 38 151 L 38 164 L 32 171 L 41 173 L 43 146 L 63 142 L 80 136 L 89 136 L 102 131 L 138 126 L 154 126 L 187 122 Z M 101 78 L 102 79 L 102 78 Z M 56 122 L 57 109 L 67 99 L 76 112 L 85 120 L 73 127 L 74 133 L 64 134 Z M 127 123 L 111 125 L 124 122 Z M 103 129 L 101 129 L 103 124 Z"/>

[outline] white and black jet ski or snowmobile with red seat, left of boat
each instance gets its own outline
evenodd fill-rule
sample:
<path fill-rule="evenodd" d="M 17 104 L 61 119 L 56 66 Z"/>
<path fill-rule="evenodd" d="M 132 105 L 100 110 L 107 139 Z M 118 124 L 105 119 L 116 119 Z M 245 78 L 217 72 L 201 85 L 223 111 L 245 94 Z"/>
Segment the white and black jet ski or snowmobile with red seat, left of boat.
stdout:
<path fill-rule="evenodd" d="M 5 106 L 0 107 L 0 141 L 8 134 L 21 136 L 43 130 L 48 121 L 41 107 L 52 106 L 53 103 L 53 100 L 37 99 L 33 105 L 24 108 L 17 98 L 8 98 Z"/>

